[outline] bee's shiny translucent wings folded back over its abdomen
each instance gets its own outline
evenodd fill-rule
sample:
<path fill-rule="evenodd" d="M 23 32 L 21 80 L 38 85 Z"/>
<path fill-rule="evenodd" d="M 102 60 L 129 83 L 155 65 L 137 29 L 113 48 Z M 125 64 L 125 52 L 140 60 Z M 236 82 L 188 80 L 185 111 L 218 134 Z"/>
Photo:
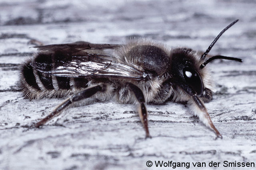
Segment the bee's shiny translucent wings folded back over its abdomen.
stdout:
<path fill-rule="evenodd" d="M 118 47 L 106 44 L 63 44 L 63 45 L 46 45 L 37 47 L 43 51 L 50 51 L 50 55 L 38 55 L 37 57 L 51 57 L 46 59 L 36 59 L 30 65 L 39 72 L 52 74 L 54 76 L 74 77 L 74 78 L 129 78 L 134 80 L 146 79 L 144 70 L 136 66 L 129 66 L 121 63 L 115 57 L 103 54 L 92 54 L 83 51 L 84 49 L 113 48 Z M 68 51 L 76 51 L 67 53 Z M 74 55 L 76 54 L 76 55 Z"/>

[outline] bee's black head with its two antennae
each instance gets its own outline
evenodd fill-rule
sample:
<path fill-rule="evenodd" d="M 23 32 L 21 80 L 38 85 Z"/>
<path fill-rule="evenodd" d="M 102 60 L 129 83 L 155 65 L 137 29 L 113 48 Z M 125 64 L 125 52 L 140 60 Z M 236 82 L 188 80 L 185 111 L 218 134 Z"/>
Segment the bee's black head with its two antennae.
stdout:
<path fill-rule="evenodd" d="M 170 70 L 173 76 L 175 84 L 180 86 L 186 93 L 190 96 L 201 96 L 204 92 L 204 82 L 203 74 L 206 70 L 204 67 L 206 64 L 210 63 L 215 59 L 226 59 L 242 62 L 241 59 L 234 57 L 226 57 L 222 55 L 216 55 L 210 57 L 208 60 L 204 61 L 206 55 L 210 52 L 214 44 L 220 38 L 220 36 L 232 25 L 234 25 L 238 20 L 230 23 L 226 28 L 224 28 L 218 36 L 212 41 L 208 49 L 204 54 L 198 59 L 195 51 L 186 48 L 174 49 L 171 54 L 172 68 Z M 198 65 L 199 64 L 199 65 Z M 205 77 L 205 76 L 204 76 Z"/>

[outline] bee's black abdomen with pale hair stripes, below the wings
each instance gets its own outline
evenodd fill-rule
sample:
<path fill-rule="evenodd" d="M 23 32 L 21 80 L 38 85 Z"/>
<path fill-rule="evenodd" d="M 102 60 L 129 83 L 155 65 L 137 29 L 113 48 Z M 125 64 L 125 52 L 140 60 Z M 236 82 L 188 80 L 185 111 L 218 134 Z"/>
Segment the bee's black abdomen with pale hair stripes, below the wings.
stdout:
<path fill-rule="evenodd" d="M 65 97 L 73 94 L 75 90 L 87 87 L 88 80 L 85 78 L 53 76 L 35 70 L 30 63 L 48 71 L 52 69 L 53 65 L 60 64 L 53 61 L 51 54 L 45 53 L 39 53 L 34 59 L 22 64 L 20 82 L 26 98 Z"/>

